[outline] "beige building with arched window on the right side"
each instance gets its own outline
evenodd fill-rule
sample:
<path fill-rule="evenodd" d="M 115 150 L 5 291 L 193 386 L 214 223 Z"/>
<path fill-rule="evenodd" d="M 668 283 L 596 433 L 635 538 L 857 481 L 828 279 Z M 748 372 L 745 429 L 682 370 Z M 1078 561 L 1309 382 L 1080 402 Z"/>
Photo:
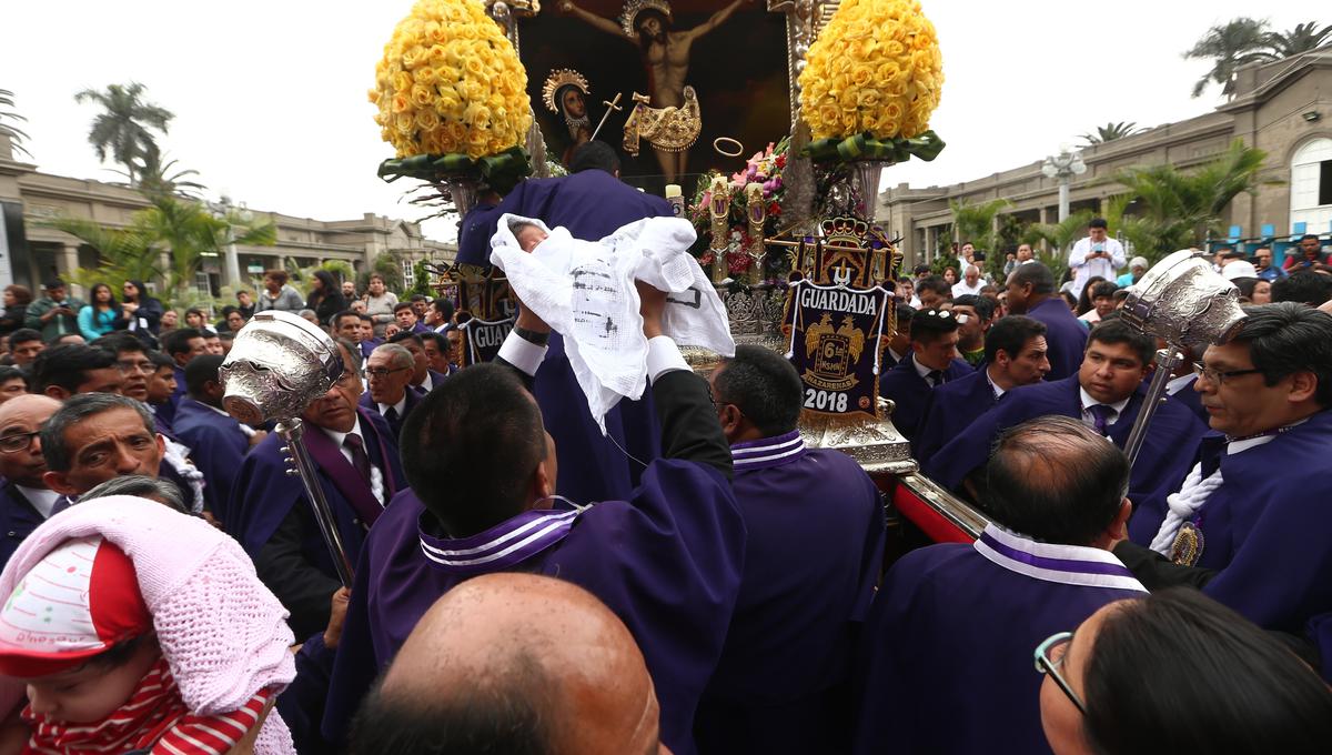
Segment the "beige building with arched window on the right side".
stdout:
<path fill-rule="evenodd" d="M 1239 232 L 1233 237 L 1268 238 L 1281 246 L 1292 234 L 1332 234 L 1332 45 L 1240 69 L 1235 97 L 1211 113 L 1084 148 L 1087 172 L 1070 185 L 1070 212 L 1100 212 L 1108 197 L 1123 193 L 1112 180 L 1123 168 L 1195 166 L 1236 138 L 1267 152 L 1261 178 L 1279 182 L 1231 202 L 1227 225 Z M 1052 224 L 1059 181 L 1042 174 L 1042 160 L 951 186 L 899 184 L 880 193 L 876 218 L 890 236 L 903 238 L 908 266 L 932 261 L 951 242 L 962 241 L 954 237 L 950 200 L 1003 198 L 1011 202 L 1006 214 Z"/>

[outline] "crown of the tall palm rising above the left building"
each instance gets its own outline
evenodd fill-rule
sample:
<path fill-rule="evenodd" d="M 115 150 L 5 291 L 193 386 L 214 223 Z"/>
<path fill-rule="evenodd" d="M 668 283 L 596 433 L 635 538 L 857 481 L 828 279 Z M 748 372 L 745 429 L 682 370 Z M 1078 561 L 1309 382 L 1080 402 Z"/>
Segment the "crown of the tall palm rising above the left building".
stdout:
<path fill-rule="evenodd" d="M 105 111 L 93 119 L 88 142 L 99 160 L 105 161 L 109 152 L 116 162 L 124 165 L 131 185 L 139 182 L 141 162 L 161 160 L 152 130 L 166 133 L 168 124 L 176 117 L 170 111 L 141 100 L 143 93 L 143 84 L 129 83 L 112 84 L 105 92 L 84 89 L 75 95 L 75 101 L 93 101 Z"/>

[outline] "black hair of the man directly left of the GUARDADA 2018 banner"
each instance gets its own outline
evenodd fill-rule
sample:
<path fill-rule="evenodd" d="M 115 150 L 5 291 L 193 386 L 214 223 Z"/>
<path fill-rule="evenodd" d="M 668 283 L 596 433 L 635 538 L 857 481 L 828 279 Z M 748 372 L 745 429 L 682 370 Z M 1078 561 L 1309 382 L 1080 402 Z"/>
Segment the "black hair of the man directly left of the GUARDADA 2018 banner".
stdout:
<path fill-rule="evenodd" d="M 782 435 L 801 419 L 805 383 L 791 361 L 771 349 L 735 348 L 713 377 L 717 403 L 734 403 L 763 437 Z"/>

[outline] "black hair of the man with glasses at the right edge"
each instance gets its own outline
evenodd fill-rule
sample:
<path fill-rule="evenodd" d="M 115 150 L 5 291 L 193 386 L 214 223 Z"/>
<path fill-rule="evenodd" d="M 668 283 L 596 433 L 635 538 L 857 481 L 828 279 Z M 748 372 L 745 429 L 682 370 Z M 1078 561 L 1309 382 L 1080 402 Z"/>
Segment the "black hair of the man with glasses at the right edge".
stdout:
<path fill-rule="evenodd" d="M 1315 401 L 1332 406 L 1332 314 L 1293 302 L 1245 306 L 1244 313 L 1235 341 L 1248 344 L 1263 382 L 1272 386 L 1308 370 L 1319 379 Z"/>

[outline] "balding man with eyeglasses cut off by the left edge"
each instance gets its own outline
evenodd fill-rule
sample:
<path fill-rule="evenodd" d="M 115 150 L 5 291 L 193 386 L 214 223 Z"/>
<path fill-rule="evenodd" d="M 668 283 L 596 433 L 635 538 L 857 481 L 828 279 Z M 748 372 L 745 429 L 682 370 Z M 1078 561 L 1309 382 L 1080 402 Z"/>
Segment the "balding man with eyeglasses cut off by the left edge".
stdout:
<path fill-rule="evenodd" d="M 60 402 L 47 395 L 19 395 L 0 405 L 0 569 L 61 498 L 41 478 L 47 461 L 39 439 L 41 423 L 59 409 Z"/>

